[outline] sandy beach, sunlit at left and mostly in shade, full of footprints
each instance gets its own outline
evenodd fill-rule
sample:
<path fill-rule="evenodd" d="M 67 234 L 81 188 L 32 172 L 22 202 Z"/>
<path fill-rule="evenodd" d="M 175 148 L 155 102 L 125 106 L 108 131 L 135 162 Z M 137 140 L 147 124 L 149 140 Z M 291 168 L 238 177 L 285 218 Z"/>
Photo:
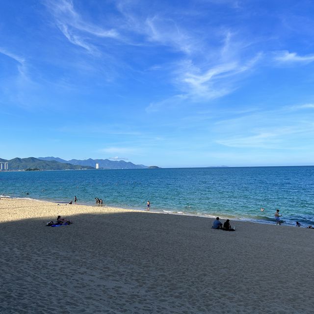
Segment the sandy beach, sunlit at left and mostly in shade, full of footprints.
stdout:
<path fill-rule="evenodd" d="M 0 313 L 314 313 L 314 230 L 211 224 L 2 198 Z"/>

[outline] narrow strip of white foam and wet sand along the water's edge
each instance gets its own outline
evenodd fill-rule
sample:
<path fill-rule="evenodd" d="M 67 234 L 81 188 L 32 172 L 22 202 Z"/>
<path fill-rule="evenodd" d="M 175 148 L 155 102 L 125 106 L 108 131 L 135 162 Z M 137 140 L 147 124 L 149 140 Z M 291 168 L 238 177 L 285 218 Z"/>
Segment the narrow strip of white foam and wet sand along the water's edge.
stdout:
<path fill-rule="evenodd" d="M 57 202 L 57 201 L 46 201 L 46 200 L 40 200 L 40 199 L 34 199 L 34 198 L 30 198 L 30 197 L 11 197 L 11 196 L 0 196 L 2 198 L 8 198 L 8 199 L 17 199 L 17 200 L 30 200 L 30 201 L 36 201 L 36 202 L 47 202 L 47 203 L 53 203 L 53 204 L 62 204 L 62 205 L 70 205 L 65 201 L 61 201 L 61 202 Z M 212 214 L 207 214 L 207 213 L 192 213 L 192 212 L 184 212 L 182 210 L 166 210 L 166 209 L 160 209 L 160 210 L 150 210 L 147 211 L 146 209 L 133 209 L 133 208 L 125 208 L 125 207 L 115 207 L 115 206 L 106 206 L 105 204 L 103 204 L 104 206 L 100 206 L 98 204 L 90 204 L 90 203 L 81 203 L 81 204 L 71 204 L 72 206 L 87 206 L 87 207 L 92 207 L 92 208 L 115 208 L 115 209 L 121 209 L 121 210 L 134 210 L 134 211 L 143 211 L 143 212 L 151 212 L 151 213 L 161 213 L 161 214 L 170 214 L 170 215 L 175 215 L 175 216 L 191 216 L 191 217 L 202 217 L 202 218 L 210 218 L 210 219 L 215 219 L 217 216 L 216 215 L 212 215 Z M 233 217 L 233 216 L 228 216 L 228 215 L 224 215 L 224 214 L 219 214 L 219 218 L 220 219 L 230 219 L 232 222 L 252 222 L 252 223 L 257 223 L 257 224 L 262 224 L 262 225 L 276 225 L 276 221 L 275 218 L 273 220 L 257 220 L 257 219 L 252 219 L 252 218 L 241 218 L 241 217 Z M 282 225 L 283 226 L 288 226 L 288 227 L 295 227 L 294 224 L 290 224 L 290 223 L 285 223 L 284 221 L 282 221 Z M 304 226 L 301 226 L 300 228 L 307 228 Z"/>

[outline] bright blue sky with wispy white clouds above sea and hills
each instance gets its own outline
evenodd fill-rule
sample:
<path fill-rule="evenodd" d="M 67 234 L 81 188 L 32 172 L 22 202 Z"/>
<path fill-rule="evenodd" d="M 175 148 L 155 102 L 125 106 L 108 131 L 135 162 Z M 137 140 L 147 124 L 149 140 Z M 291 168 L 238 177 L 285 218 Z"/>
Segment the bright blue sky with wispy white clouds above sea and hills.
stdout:
<path fill-rule="evenodd" d="M 0 1 L 0 157 L 314 164 L 314 2 Z"/>

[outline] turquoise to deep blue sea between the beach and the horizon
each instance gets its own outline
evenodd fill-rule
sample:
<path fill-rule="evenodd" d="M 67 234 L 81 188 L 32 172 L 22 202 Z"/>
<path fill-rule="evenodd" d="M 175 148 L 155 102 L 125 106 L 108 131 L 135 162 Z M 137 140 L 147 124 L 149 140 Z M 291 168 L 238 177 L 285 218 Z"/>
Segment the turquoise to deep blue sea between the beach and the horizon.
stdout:
<path fill-rule="evenodd" d="M 0 172 L 0 195 L 314 224 L 314 166 Z"/>

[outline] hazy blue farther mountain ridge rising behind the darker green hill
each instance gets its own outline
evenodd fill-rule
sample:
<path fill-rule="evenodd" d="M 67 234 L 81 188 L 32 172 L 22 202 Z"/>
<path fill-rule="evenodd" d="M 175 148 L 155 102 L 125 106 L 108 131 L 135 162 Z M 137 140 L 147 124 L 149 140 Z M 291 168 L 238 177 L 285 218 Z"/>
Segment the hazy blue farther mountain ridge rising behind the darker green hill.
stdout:
<path fill-rule="evenodd" d="M 99 164 L 99 168 L 104 169 L 144 169 L 148 168 L 145 165 L 136 165 L 132 163 L 131 161 L 124 161 L 124 160 L 109 160 L 109 159 L 85 159 L 85 160 L 79 160 L 79 159 L 71 159 L 71 160 L 64 160 L 58 157 L 38 157 L 38 159 L 41 160 L 55 160 L 55 161 L 61 161 L 61 162 L 68 162 L 73 165 L 81 165 L 81 166 L 90 166 L 90 167 L 96 167 L 96 163 Z"/>

